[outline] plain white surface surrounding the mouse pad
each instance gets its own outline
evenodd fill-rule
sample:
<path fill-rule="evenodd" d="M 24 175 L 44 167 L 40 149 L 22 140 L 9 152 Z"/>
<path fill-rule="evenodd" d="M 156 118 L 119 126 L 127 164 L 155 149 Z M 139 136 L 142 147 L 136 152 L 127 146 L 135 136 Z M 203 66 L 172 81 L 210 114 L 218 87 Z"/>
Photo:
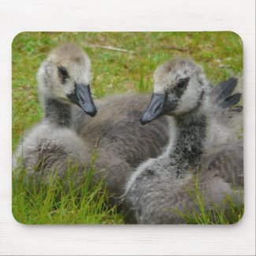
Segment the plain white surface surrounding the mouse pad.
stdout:
<path fill-rule="evenodd" d="M 0 0 L 0 254 L 255 254 L 254 0 Z M 11 213 L 11 43 L 23 31 L 233 31 L 244 46 L 246 212 L 229 226 L 28 226 Z"/>

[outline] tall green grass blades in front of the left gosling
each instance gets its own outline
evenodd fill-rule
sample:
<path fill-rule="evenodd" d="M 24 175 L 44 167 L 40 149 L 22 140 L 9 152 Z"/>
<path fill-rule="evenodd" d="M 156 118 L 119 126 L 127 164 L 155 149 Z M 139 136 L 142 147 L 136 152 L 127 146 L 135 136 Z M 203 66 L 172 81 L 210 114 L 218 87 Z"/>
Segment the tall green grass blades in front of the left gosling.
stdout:
<path fill-rule="evenodd" d="M 80 185 L 72 179 L 75 166 L 65 177 L 52 174 L 44 183 L 24 169 L 13 172 L 13 217 L 23 224 L 122 224 L 117 208 L 108 206 L 102 181 L 91 186 L 94 172 L 84 172 Z"/>

